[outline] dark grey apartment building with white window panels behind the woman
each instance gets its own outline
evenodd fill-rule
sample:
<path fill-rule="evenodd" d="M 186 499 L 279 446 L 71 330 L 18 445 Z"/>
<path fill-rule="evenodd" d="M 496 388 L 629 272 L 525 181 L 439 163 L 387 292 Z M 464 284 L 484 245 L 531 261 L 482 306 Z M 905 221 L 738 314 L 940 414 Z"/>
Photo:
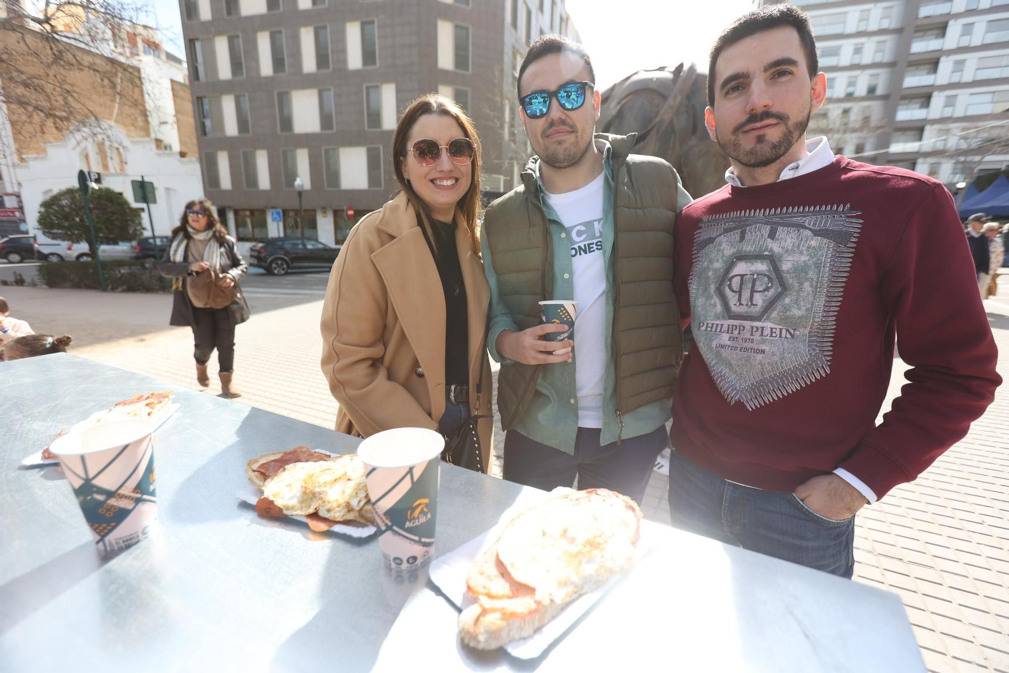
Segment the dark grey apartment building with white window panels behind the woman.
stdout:
<path fill-rule="evenodd" d="M 394 129 L 427 92 L 467 110 L 485 188 L 511 189 L 529 153 L 514 71 L 530 39 L 576 34 L 558 0 L 182 0 L 182 16 L 205 193 L 246 245 L 300 233 L 296 178 L 305 235 L 341 243 L 397 189 Z"/>

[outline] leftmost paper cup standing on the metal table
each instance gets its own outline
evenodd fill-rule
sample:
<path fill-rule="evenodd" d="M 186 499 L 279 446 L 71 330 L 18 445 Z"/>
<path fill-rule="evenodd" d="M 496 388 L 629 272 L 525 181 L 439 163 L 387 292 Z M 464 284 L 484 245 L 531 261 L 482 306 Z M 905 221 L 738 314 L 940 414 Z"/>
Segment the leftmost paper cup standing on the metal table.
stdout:
<path fill-rule="evenodd" d="M 143 419 L 71 430 L 49 446 L 102 554 L 147 537 L 157 517 L 153 427 Z"/>

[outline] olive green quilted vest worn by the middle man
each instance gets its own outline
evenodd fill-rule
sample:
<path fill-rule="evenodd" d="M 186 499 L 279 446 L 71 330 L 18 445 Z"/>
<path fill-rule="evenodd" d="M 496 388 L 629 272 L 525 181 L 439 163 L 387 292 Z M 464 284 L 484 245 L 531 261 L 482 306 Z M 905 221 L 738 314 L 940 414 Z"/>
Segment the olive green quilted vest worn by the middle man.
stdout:
<path fill-rule="evenodd" d="M 596 134 L 611 148 L 613 170 L 613 333 L 618 414 L 673 396 L 683 357 L 680 312 L 673 294 L 673 222 L 677 185 L 672 167 L 631 155 L 634 135 Z M 521 329 L 540 323 L 539 302 L 552 299 L 553 245 L 540 204 L 535 165 L 523 184 L 491 203 L 483 226 L 501 298 Z M 497 408 L 515 427 L 536 393 L 539 366 L 502 365 Z"/>

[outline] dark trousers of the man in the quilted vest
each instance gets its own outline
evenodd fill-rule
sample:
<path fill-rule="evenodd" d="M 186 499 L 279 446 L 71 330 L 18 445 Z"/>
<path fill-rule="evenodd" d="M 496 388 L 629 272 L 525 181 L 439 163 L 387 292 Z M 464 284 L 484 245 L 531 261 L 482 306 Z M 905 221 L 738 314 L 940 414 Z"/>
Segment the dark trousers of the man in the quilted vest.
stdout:
<path fill-rule="evenodd" d="M 669 443 L 666 427 L 639 437 L 599 446 L 598 427 L 579 427 L 574 455 L 534 442 L 509 430 L 504 435 L 504 478 L 550 491 L 571 487 L 575 475 L 578 488 L 608 488 L 634 498 L 639 504 L 652 476 L 655 457 Z"/>

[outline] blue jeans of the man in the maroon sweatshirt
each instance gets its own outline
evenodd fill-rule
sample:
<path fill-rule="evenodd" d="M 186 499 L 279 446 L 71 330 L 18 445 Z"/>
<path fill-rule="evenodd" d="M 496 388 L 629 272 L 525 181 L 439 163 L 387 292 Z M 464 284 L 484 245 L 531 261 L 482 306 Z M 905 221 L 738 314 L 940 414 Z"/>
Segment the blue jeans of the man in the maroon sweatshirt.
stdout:
<path fill-rule="evenodd" d="M 855 516 L 826 518 L 794 493 L 725 481 L 678 455 L 669 461 L 673 525 L 726 545 L 852 578 Z"/>

